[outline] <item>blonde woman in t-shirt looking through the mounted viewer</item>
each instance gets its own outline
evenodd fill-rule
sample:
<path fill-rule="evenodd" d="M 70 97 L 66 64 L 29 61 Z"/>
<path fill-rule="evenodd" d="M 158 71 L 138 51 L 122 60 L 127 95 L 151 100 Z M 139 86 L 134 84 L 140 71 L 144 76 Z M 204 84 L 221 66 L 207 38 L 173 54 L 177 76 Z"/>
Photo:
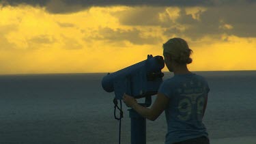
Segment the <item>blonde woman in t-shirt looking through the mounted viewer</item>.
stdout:
<path fill-rule="evenodd" d="M 165 111 L 168 132 L 166 144 L 208 144 L 208 132 L 202 123 L 210 91 L 202 76 L 187 68 L 192 50 L 185 40 L 172 38 L 163 44 L 165 65 L 174 76 L 163 81 L 151 108 L 124 94 L 123 101 L 143 117 L 154 121 Z"/>

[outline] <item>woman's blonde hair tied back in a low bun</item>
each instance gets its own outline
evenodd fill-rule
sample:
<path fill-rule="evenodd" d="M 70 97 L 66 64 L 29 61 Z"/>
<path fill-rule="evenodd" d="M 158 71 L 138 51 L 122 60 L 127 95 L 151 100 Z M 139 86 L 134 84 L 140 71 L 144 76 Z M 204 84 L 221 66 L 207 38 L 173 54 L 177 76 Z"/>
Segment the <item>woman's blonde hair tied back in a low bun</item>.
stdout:
<path fill-rule="evenodd" d="M 162 45 L 164 49 L 163 55 L 169 55 L 171 59 L 180 64 L 192 63 L 190 58 L 193 51 L 188 47 L 188 44 L 182 38 L 171 38 Z"/>

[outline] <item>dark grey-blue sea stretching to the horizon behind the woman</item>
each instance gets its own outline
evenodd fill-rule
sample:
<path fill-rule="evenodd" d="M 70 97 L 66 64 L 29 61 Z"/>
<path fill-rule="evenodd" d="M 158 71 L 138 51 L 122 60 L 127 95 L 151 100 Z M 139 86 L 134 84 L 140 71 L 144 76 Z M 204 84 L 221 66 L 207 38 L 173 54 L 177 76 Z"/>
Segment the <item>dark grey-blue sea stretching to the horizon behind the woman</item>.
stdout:
<path fill-rule="evenodd" d="M 210 143 L 256 144 L 256 71 L 194 73 L 204 76 L 210 86 L 203 117 Z M 105 75 L 0 75 L 0 143 L 118 143 L 115 94 L 102 89 Z M 171 76 L 165 72 L 164 79 Z M 128 107 L 122 104 L 122 109 L 120 138 L 129 144 Z M 146 128 L 147 143 L 165 143 L 165 113 L 155 121 L 147 120 Z"/>

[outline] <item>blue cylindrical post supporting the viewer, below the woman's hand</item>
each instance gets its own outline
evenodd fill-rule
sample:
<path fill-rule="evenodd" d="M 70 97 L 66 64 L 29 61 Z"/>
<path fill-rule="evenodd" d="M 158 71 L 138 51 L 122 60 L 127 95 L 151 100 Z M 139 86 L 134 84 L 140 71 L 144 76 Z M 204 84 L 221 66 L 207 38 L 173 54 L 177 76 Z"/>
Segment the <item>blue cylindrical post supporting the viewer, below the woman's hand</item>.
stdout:
<path fill-rule="evenodd" d="M 130 115 L 131 144 L 146 144 L 146 119 L 134 109 L 128 109 Z"/>

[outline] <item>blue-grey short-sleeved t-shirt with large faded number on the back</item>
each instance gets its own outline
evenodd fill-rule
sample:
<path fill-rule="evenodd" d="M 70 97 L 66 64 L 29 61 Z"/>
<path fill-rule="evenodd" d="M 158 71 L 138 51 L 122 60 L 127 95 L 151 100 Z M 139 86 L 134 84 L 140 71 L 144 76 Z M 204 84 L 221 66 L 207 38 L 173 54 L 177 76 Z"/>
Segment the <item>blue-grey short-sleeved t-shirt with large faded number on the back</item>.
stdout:
<path fill-rule="evenodd" d="M 175 74 L 160 85 L 158 93 L 170 99 L 165 109 L 168 132 L 165 143 L 177 143 L 200 136 L 208 137 L 202 123 L 207 81 L 197 74 Z"/>

